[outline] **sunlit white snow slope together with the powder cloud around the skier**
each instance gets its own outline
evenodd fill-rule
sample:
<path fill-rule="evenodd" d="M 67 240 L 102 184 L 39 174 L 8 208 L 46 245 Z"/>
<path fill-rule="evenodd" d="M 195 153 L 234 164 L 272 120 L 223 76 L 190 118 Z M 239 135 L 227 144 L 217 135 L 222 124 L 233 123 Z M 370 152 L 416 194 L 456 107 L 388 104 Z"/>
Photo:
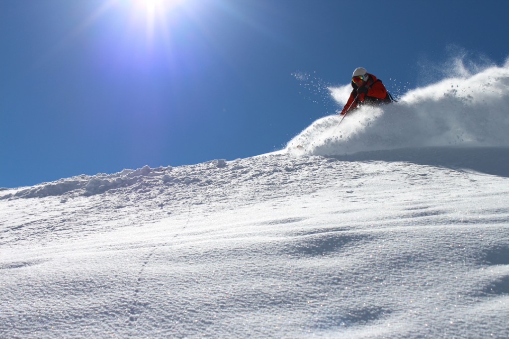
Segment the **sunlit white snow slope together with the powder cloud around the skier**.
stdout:
<path fill-rule="evenodd" d="M 509 72 L 449 82 L 268 155 L 1 189 L 0 337 L 509 337 Z"/>

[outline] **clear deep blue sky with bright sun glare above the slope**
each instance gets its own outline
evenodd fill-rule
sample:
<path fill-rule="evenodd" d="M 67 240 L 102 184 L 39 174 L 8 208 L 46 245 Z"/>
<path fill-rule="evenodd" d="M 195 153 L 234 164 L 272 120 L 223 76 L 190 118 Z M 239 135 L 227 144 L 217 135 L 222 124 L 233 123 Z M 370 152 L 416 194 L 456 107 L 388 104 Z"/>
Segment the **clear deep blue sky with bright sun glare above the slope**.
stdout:
<path fill-rule="evenodd" d="M 356 67 L 402 94 L 502 64 L 507 4 L 0 0 L 0 187 L 279 149 Z"/>

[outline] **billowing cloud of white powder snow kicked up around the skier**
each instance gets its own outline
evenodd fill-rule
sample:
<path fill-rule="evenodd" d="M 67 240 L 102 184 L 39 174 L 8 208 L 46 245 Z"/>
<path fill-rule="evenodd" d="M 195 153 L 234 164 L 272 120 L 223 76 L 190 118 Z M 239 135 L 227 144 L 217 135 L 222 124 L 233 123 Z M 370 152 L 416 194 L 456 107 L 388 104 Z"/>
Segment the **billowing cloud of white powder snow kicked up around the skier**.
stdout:
<path fill-rule="evenodd" d="M 316 120 L 287 144 L 309 155 L 428 146 L 509 146 L 509 61 L 408 91 L 398 103 Z M 331 88 L 344 105 L 350 85 Z"/>

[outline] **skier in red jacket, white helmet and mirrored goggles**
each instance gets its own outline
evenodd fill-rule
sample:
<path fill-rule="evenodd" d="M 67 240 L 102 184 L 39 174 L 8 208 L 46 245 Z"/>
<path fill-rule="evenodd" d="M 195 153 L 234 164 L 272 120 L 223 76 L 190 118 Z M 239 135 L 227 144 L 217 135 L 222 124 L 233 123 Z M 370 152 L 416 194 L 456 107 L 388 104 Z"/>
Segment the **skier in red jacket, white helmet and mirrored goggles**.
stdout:
<path fill-rule="evenodd" d="M 378 105 L 390 103 L 390 94 L 385 89 L 382 81 L 378 80 L 373 74 L 367 73 L 365 68 L 357 68 L 352 75 L 352 93 L 341 115 L 345 115 L 359 105 Z"/>

